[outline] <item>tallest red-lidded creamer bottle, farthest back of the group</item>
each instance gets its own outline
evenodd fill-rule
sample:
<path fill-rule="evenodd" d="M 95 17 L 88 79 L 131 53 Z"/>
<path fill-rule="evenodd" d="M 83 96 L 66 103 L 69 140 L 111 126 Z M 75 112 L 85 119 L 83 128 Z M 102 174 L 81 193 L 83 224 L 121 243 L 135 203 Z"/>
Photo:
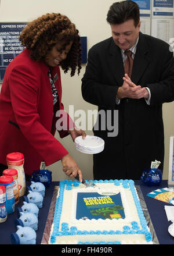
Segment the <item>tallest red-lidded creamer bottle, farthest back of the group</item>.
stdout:
<path fill-rule="evenodd" d="M 6 156 L 6 162 L 8 168 L 16 169 L 18 172 L 18 186 L 19 196 L 23 196 L 26 193 L 26 176 L 24 173 L 24 155 L 20 152 L 13 152 Z"/>

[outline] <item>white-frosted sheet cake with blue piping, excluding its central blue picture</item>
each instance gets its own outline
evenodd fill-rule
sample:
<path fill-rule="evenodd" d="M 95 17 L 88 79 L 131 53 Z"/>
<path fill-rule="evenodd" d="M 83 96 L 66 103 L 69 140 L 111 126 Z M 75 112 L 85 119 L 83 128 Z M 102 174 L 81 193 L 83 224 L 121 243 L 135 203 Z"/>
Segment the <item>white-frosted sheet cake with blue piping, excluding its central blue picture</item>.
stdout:
<path fill-rule="evenodd" d="M 120 243 L 120 244 L 151 244 L 148 227 L 144 216 L 140 218 L 141 211 L 137 210 L 139 202 L 135 204 L 135 197 L 132 190 L 124 188 L 122 183 L 115 186 L 113 183 L 97 183 L 95 187 L 85 188 L 83 184 L 72 186 L 73 189 L 67 190 L 67 184 L 63 190 L 63 195 L 57 195 L 57 205 L 55 218 L 50 232 L 50 244 L 78 244 L 78 243 Z M 60 189 L 60 190 L 61 190 Z M 60 192 L 59 190 L 59 192 Z M 135 187 L 133 187 L 133 191 Z M 62 191 L 61 191 L 62 192 Z M 125 218 L 116 219 L 77 219 L 76 205 L 77 194 L 97 192 L 102 196 L 120 193 L 122 206 L 124 207 Z M 104 193 L 104 195 L 103 195 Z M 60 201 L 63 197 L 63 201 Z M 104 205 L 103 205 L 104 207 Z M 140 210 L 142 210 L 140 208 Z M 56 215 L 56 213 L 59 214 Z M 144 219 L 143 219 L 144 218 Z M 143 220 L 142 220 L 143 219 Z M 133 223 L 135 226 L 133 227 Z M 145 227 L 144 227 L 145 223 Z M 65 229 L 63 229 L 65 227 Z"/>

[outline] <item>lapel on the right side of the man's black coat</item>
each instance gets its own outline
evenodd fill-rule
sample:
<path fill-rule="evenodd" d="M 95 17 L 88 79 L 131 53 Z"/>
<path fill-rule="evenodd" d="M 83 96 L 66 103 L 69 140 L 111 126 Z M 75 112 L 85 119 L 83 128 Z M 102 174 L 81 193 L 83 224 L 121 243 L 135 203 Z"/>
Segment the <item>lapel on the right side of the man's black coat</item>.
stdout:
<path fill-rule="evenodd" d="M 139 42 L 136 48 L 135 58 L 133 60 L 132 76 L 133 83 L 138 84 L 144 71 L 150 62 L 150 56 L 148 56 L 148 46 L 144 41 L 143 34 L 139 34 Z"/>

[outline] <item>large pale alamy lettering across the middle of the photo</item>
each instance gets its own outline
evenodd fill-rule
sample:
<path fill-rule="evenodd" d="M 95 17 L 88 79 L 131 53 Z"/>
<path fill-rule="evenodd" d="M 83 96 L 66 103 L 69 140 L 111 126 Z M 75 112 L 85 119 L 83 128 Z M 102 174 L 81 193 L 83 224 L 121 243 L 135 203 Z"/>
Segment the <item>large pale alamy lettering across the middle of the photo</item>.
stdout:
<path fill-rule="evenodd" d="M 68 114 L 70 116 L 67 120 L 67 113 L 64 110 L 56 112 L 56 117 L 59 118 L 56 122 L 56 129 L 58 131 L 67 130 L 75 124 L 76 127 L 82 130 L 107 130 L 108 137 L 115 137 L 118 135 L 118 110 L 108 109 L 106 111 L 97 109 L 88 109 L 87 113 L 83 109 L 74 111 L 74 105 L 69 106 Z M 72 128 L 73 129 L 73 128 Z"/>

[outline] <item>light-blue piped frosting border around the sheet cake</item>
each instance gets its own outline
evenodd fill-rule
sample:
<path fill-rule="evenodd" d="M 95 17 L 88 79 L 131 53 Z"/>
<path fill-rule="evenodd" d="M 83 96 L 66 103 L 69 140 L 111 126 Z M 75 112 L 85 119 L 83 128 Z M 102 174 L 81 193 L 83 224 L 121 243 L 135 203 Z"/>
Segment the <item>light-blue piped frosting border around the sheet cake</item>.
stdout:
<path fill-rule="evenodd" d="M 78 181 L 71 181 L 71 180 L 64 180 L 61 181 L 59 186 L 60 186 L 60 191 L 59 191 L 59 197 L 57 198 L 56 201 L 56 205 L 55 205 L 55 216 L 53 219 L 53 223 L 54 223 L 54 227 L 53 227 L 53 232 L 50 236 L 50 243 L 55 243 L 56 242 L 56 237 L 57 236 L 73 236 L 73 235 L 88 235 L 88 234 L 144 234 L 144 236 L 146 237 L 146 241 L 152 241 L 152 237 L 151 237 L 151 233 L 148 231 L 147 229 L 147 223 L 146 223 L 146 219 L 144 217 L 143 214 L 143 210 L 142 207 L 140 205 L 140 201 L 137 197 L 136 194 L 136 189 L 135 189 L 135 183 L 133 182 L 133 180 L 85 180 L 86 183 L 89 182 L 93 182 L 93 183 L 114 183 L 115 186 L 119 186 L 120 183 L 122 183 L 122 186 L 125 189 L 130 188 L 131 192 L 132 192 L 132 196 L 133 196 L 133 200 L 135 201 L 135 205 L 136 205 L 136 209 L 137 209 L 137 213 L 139 215 L 139 219 L 140 219 L 140 223 L 142 226 L 142 229 L 140 229 L 139 225 L 137 222 L 133 221 L 131 222 L 132 228 L 128 225 L 125 225 L 123 227 L 123 231 L 120 230 L 78 230 L 76 226 L 72 226 L 72 227 L 68 227 L 68 223 L 62 223 L 61 224 L 61 231 L 59 231 L 59 226 L 60 226 L 60 217 L 61 217 L 61 210 L 62 210 L 62 205 L 63 205 L 63 197 L 64 197 L 64 189 L 65 189 L 65 185 L 66 186 L 66 190 L 71 190 L 73 189 L 73 186 L 78 187 L 80 182 Z M 88 242 L 86 242 L 87 244 L 89 244 Z M 82 243 L 81 241 L 79 241 L 79 244 L 86 244 L 86 243 Z M 105 241 L 100 241 L 100 242 L 93 242 L 93 244 L 111 244 L 111 242 L 105 242 Z M 112 242 L 120 244 L 120 241 L 115 241 Z"/>

